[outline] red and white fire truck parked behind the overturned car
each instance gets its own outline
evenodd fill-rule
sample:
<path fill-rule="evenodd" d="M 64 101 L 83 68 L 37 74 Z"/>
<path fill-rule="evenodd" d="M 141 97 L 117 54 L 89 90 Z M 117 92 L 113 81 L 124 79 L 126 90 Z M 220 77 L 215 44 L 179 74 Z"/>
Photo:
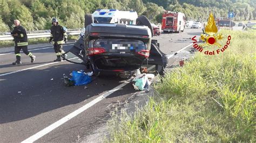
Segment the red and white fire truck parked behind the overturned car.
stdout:
<path fill-rule="evenodd" d="M 162 30 L 167 32 L 183 32 L 185 29 L 185 15 L 181 12 L 165 11 L 162 18 Z"/>

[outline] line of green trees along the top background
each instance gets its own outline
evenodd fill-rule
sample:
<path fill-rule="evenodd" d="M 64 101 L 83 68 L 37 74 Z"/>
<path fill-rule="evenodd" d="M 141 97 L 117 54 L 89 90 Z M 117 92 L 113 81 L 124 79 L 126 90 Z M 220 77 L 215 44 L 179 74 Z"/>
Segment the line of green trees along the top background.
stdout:
<path fill-rule="evenodd" d="M 27 30 L 48 30 L 52 17 L 67 28 L 81 28 L 84 14 L 96 9 L 135 10 L 152 23 L 161 23 L 165 10 L 184 12 L 186 20 L 206 21 L 210 12 L 214 17 L 227 17 L 234 12 L 234 20 L 256 19 L 256 0 L 0 0 L 0 32 L 10 31 L 14 19 Z"/>

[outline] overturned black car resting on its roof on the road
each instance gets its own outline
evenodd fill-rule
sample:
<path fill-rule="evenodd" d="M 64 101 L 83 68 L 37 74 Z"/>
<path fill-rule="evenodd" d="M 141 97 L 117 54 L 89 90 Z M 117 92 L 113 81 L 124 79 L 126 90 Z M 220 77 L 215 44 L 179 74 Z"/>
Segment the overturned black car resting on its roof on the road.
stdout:
<path fill-rule="evenodd" d="M 146 17 L 138 20 L 140 25 L 96 24 L 91 19 L 88 25 L 85 24 L 84 38 L 81 37 L 68 52 L 83 60 L 82 64 L 91 68 L 96 76 L 132 74 L 143 64 L 156 65 L 157 72 L 164 74 L 167 56 L 160 52 L 157 40 L 151 39 L 149 20 Z"/>

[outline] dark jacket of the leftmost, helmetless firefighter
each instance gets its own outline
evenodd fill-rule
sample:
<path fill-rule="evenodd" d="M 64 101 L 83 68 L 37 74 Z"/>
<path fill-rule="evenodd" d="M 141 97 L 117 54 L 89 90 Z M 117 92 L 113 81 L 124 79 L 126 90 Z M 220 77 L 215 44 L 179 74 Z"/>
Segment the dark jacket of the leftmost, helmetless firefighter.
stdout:
<path fill-rule="evenodd" d="M 26 29 L 23 26 L 15 26 L 11 34 L 18 34 L 14 36 L 15 46 L 28 46 L 28 35 L 26 35 Z"/>

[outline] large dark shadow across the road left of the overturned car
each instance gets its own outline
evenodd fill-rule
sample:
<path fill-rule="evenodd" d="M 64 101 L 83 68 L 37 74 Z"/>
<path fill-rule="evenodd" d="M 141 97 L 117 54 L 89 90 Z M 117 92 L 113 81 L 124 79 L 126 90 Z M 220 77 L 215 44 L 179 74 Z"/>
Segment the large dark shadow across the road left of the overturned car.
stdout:
<path fill-rule="evenodd" d="M 90 102 L 91 97 L 98 96 L 120 84 L 120 80 L 95 78 L 87 85 L 64 86 L 63 74 L 69 76 L 72 70 L 84 68 L 82 65 L 63 64 L 2 76 L 0 124 L 36 116 L 44 118 L 48 116 L 46 112 L 50 112 L 51 116 L 54 116 L 52 118 L 59 118 L 58 115 L 63 115 L 63 110 L 64 114 L 71 113 Z"/>

